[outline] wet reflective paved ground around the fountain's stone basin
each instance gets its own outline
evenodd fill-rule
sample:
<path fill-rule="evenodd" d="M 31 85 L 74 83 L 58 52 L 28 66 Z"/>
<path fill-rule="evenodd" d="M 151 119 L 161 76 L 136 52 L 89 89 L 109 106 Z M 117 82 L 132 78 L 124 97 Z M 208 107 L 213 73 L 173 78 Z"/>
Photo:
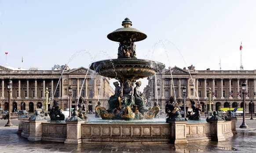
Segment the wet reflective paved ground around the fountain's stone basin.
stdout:
<path fill-rule="evenodd" d="M 240 129 L 242 118 L 238 118 L 238 134 L 222 142 L 200 142 L 188 144 L 63 144 L 31 142 L 16 134 L 18 119 L 11 119 L 14 126 L 4 127 L 7 120 L 0 120 L 0 153 L 255 153 L 256 118 L 246 118 L 249 129 Z"/>

